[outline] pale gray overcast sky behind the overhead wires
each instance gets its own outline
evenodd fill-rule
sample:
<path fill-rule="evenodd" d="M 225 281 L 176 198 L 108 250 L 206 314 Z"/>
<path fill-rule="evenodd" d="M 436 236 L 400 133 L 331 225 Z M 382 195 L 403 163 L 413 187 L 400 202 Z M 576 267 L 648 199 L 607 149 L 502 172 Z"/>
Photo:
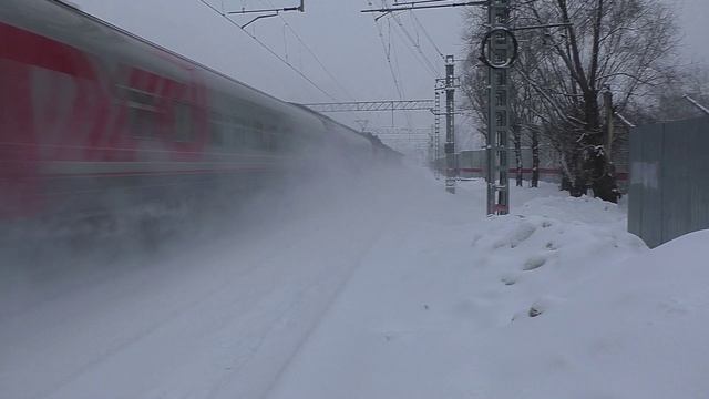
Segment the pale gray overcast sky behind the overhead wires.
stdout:
<path fill-rule="evenodd" d="M 207 0 L 220 8 L 222 0 Z M 668 0 L 670 1 L 670 0 Z M 73 0 L 84 11 L 142 35 L 171 50 L 197 60 L 256 89 L 287 101 L 320 102 L 328 96 L 307 83 L 269 54 L 251 38 L 228 24 L 199 0 Z M 224 0 L 227 8 L 294 6 L 298 0 Z M 389 1 L 391 2 L 391 0 Z M 372 0 L 380 4 L 381 0 Z M 709 0 L 676 0 L 685 34 L 686 63 L 690 59 L 709 61 Z M 360 13 L 367 0 L 306 0 L 306 13 L 285 13 L 284 18 L 337 79 L 326 73 L 308 50 L 287 30 L 279 18 L 253 24 L 253 32 L 338 101 L 398 99 L 384 55 L 384 45 L 371 14 Z M 421 24 L 444 54 L 462 57 L 463 20 L 461 9 L 418 11 Z M 235 18 L 237 19 L 237 18 Z M 425 32 L 410 14 L 400 22 L 422 52 L 442 73 L 443 61 L 429 43 Z M 239 17 L 239 21 L 248 18 Z M 407 99 L 432 98 L 434 75 L 424 66 L 405 33 L 393 20 L 379 22 L 386 48 Z M 251 29 L 249 28 L 249 31 Z M 391 40 L 390 40 L 391 35 Z M 390 44 L 391 43 L 391 44 Z M 356 126 L 354 120 L 369 119 L 370 126 L 391 124 L 390 114 L 335 114 Z M 430 114 L 397 116 L 397 125 L 428 127 Z M 465 123 L 462 123 L 465 124 Z M 465 145 L 465 144 L 463 144 Z"/>

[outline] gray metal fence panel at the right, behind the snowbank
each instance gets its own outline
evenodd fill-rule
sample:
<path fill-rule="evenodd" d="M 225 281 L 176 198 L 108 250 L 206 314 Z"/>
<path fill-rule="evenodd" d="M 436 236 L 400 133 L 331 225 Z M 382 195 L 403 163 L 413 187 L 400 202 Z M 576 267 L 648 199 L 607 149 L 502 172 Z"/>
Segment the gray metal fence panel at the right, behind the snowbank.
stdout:
<path fill-rule="evenodd" d="M 656 247 L 705 228 L 709 228 L 709 117 L 634 129 L 628 231 Z"/>

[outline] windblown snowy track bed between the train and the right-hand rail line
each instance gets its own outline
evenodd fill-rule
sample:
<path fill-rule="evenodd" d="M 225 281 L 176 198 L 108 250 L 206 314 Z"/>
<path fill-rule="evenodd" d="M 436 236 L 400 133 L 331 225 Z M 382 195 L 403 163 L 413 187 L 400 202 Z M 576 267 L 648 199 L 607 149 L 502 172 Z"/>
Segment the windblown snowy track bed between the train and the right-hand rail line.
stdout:
<path fill-rule="evenodd" d="M 305 216 L 188 253 L 7 279 L 2 397 L 260 397 L 381 232 L 405 218 L 405 193 L 352 188 L 309 193 L 296 201 L 327 204 L 291 204 Z"/>

